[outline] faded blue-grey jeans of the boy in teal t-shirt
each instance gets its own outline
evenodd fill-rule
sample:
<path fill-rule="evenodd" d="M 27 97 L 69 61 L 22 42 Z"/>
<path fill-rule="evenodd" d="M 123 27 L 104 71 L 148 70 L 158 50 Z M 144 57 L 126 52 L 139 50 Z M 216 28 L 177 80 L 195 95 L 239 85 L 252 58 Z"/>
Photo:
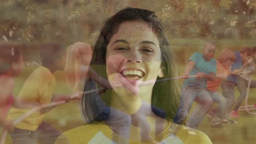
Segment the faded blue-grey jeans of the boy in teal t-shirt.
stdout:
<path fill-rule="evenodd" d="M 175 123 L 181 124 L 184 121 L 184 119 L 188 116 L 194 100 L 201 105 L 201 109 L 195 109 L 191 113 L 187 126 L 196 128 L 201 123 L 208 110 L 211 109 L 213 100 L 206 88 L 193 87 L 183 87 L 181 92 L 181 104 L 179 105 L 179 110 L 174 118 Z"/>

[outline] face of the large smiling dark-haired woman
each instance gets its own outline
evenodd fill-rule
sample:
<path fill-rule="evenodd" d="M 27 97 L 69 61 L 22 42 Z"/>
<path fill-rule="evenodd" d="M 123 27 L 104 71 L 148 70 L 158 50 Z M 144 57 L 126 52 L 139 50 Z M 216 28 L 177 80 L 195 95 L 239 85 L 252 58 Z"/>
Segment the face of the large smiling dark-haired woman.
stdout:
<path fill-rule="evenodd" d="M 160 65 L 159 41 L 152 27 L 139 21 L 121 23 L 107 45 L 106 67 L 110 83 L 118 82 L 119 86 L 138 95 L 139 83 L 163 76 Z"/>

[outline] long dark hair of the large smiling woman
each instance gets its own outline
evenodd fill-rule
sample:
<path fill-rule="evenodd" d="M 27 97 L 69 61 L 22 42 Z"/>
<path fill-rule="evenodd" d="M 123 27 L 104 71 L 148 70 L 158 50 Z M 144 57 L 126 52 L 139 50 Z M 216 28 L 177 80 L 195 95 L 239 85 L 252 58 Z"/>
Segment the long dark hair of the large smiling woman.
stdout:
<path fill-rule="evenodd" d="M 161 115 L 155 109 L 153 112 L 159 117 L 164 117 L 168 120 L 173 119 L 178 109 L 178 83 L 177 80 L 170 80 L 169 78 L 176 76 L 174 53 L 170 47 L 167 36 L 164 32 L 164 28 L 158 17 L 153 11 L 137 8 L 125 8 L 120 10 L 117 14 L 105 22 L 104 27 L 101 30 L 100 35 L 97 38 L 94 53 L 92 55 L 92 62 L 90 67 L 93 68 L 97 74 L 107 79 L 106 74 L 106 51 L 107 45 L 112 36 L 118 31 L 118 27 L 121 23 L 126 21 L 142 21 L 150 24 L 156 37 L 158 37 L 160 50 L 161 50 L 161 68 L 164 69 L 164 77 L 158 80 L 153 87 L 152 93 L 152 105 L 165 111 L 165 115 Z M 86 90 L 88 86 L 85 85 Z M 88 123 L 95 120 L 99 115 L 98 112 L 92 111 L 95 107 L 95 98 L 92 98 L 94 94 L 84 95 L 82 100 L 83 113 Z M 101 94 L 102 99 L 110 105 L 110 93 L 109 90 Z"/>

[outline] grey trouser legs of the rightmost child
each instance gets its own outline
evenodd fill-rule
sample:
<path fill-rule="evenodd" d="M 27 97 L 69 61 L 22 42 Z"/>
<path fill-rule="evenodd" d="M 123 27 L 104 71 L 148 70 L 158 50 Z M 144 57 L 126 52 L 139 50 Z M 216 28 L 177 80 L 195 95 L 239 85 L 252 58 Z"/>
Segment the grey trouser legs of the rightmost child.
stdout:
<path fill-rule="evenodd" d="M 243 100 L 245 99 L 247 95 L 247 86 L 248 86 L 248 81 L 243 79 L 240 76 L 237 76 L 237 89 L 240 92 L 239 97 L 236 100 L 235 106 L 234 106 L 234 111 L 237 111 L 239 107 L 241 106 Z M 250 83 L 250 88 L 256 88 L 256 81 L 252 80 Z"/>

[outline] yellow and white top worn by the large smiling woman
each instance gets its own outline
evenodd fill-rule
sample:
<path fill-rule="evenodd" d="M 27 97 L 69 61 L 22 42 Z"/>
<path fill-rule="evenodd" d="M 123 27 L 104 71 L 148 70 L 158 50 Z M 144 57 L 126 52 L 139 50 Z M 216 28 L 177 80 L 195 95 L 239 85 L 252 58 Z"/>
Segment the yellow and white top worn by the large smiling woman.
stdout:
<path fill-rule="evenodd" d="M 136 130 L 137 129 L 137 130 Z M 161 134 L 154 137 L 155 141 L 162 143 L 189 143 L 189 144 L 210 144 L 212 143 L 209 137 L 199 130 L 194 130 L 195 135 L 188 133 L 187 127 L 182 125 L 177 125 L 172 122 L 168 123 L 167 128 L 162 131 Z M 113 143 L 112 142 L 113 131 L 104 123 L 91 123 L 78 127 L 72 130 L 68 130 L 63 135 L 61 135 L 55 144 L 65 144 L 65 143 Z M 137 127 L 131 127 L 131 136 L 139 136 L 139 130 Z M 130 140 L 129 143 L 141 143 L 139 137 L 136 140 Z"/>

